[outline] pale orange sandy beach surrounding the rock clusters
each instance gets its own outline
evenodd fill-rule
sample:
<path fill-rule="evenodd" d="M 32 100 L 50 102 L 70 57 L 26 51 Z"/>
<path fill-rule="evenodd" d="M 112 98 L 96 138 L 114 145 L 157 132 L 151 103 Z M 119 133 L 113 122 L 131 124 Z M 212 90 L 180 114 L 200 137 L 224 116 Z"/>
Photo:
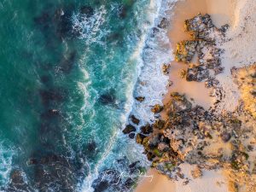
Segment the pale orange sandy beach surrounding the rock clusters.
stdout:
<path fill-rule="evenodd" d="M 249 2 L 246 5 L 245 2 Z M 217 76 L 220 84 L 226 90 L 224 100 L 218 108 L 220 112 L 234 111 L 239 100 L 239 91 L 237 85 L 234 84 L 231 78 L 231 67 L 243 67 L 252 64 L 256 61 L 255 55 L 251 53 L 254 51 L 253 45 L 248 52 L 244 46 L 247 46 L 241 38 L 246 38 L 247 41 L 254 41 L 255 25 L 252 26 L 253 20 L 249 26 L 243 23 L 243 18 L 246 15 L 253 15 L 252 10 L 248 9 L 252 6 L 255 10 L 255 3 L 252 1 L 236 1 L 236 0 L 184 0 L 178 1 L 173 9 L 174 15 L 171 20 L 169 38 L 172 49 L 178 42 L 189 38 L 189 33 L 184 32 L 184 20 L 194 17 L 201 13 L 202 15 L 208 14 L 211 16 L 214 25 L 217 27 L 229 24 L 230 30 L 228 36 L 230 41 L 228 43 L 219 44 L 222 49 L 225 49 L 223 56 L 224 73 Z M 250 10 L 250 11 L 248 11 Z M 253 16 L 254 19 L 255 16 Z M 241 32 L 241 26 L 243 31 Z M 253 31 L 254 30 L 254 31 Z M 246 32 L 245 32 L 246 31 Z M 255 42 L 255 41 L 254 41 Z M 194 58 L 193 62 L 197 62 Z M 210 95 L 210 90 L 206 88 L 204 82 L 188 82 L 180 78 L 181 70 L 185 69 L 187 64 L 172 61 L 170 67 L 170 81 L 172 86 L 169 87 L 169 93 L 175 91 L 184 94 L 190 102 L 194 105 L 200 105 L 208 110 L 216 98 Z M 166 94 L 163 101 L 164 104 L 170 101 L 170 94 Z M 161 113 L 162 117 L 166 118 L 166 111 Z M 254 141 L 255 142 L 255 141 Z M 224 177 L 224 170 L 219 169 L 215 171 L 203 171 L 203 176 L 193 180 L 190 172 L 194 166 L 182 165 L 182 170 L 185 177 L 189 177 L 189 183 L 184 184 L 180 181 L 171 181 L 166 176 L 161 175 L 154 169 L 150 169 L 147 174 L 153 175 L 153 181 L 143 179 L 137 186 L 136 192 L 228 192 L 234 191 L 229 186 L 228 177 Z M 190 180 L 191 179 L 191 180 Z M 237 190 L 238 191 L 238 190 Z"/>

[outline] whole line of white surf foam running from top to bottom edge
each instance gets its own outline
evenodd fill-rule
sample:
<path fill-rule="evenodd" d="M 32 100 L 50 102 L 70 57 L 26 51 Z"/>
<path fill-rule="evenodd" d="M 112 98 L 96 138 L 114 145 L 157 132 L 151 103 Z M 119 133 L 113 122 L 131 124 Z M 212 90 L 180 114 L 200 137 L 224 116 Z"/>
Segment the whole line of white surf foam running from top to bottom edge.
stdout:
<path fill-rule="evenodd" d="M 154 37 L 152 29 L 158 26 L 160 20 L 164 17 L 170 20 L 172 16 L 170 11 L 174 2 L 176 0 L 151 0 L 149 3 L 148 22 L 143 23 L 141 27 L 143 36 L 138 41 L 137 49 L 135 49 L 130 58 L 131 62 L 137 63 L 137 77 L 133 77 L 134 80 L 127 84 L 125 113 L 121 117 L 123 125 L 128 123 L 128 117 L 131 113 L 141 119 L 142 123 L 148 122 L 150 119 L 154 120 L 154 114 L 151 113 L 150 106 L 155 103 L 161 103 L 163 95 L 166 93 L 168 77 L 161 73 L 161 66 L 172 61 L 172 49 L 166 29 L 158 28 L 159 32 L 154 32 Z M 135 102 L 133 95 L 145 96 L 145 101 L 142 103 Z M 100 167 L 104 160 L 112 154 L 113 144 L 120 137 L 125 143 L 125 146 L 122 146 L 122 148 L 126 149 L 125 152 L 128 158 L 130 160 L 140 158 L 140 160 L 145 162 L 145 166 L 148 166 L 146 157 L 143 155 L 138 157 L 140 155 L 137 155 L 142 154 L 143 148 L 137 146 L 134 141 L 129 140 L 121 131 L 114 132 L 111 144 L 108 145 L 108 148 L 102 155 L 102 159 L 97 163 L 94 170 L 90 170 L 89 176 L 86 177 L 82 189 L 83 192 L 94 191 L 91 184 L 98 177 Z"/>

